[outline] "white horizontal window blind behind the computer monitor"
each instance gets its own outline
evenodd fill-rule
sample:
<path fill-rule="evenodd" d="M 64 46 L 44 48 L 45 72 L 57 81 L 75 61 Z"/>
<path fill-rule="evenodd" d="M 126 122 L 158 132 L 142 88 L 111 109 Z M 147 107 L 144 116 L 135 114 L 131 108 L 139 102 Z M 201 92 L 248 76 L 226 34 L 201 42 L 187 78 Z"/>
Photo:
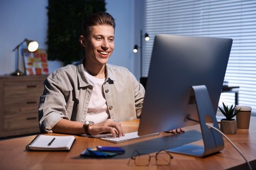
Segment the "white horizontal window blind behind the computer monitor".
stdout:
<path fill-rule="evenodd" d="M 144 8 L 144 30 L 151 39 L 142 48 L 142 76 L 148 76 L 156 34 L 231 38 L 224 80 L 240 86 L 239 105 L 256 111 L 256 1 L 145 0 Z M 222 93 L 222 101 L 234 105 L 234 93 Z"/>

